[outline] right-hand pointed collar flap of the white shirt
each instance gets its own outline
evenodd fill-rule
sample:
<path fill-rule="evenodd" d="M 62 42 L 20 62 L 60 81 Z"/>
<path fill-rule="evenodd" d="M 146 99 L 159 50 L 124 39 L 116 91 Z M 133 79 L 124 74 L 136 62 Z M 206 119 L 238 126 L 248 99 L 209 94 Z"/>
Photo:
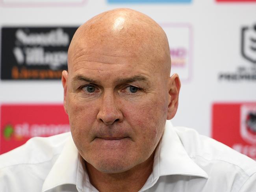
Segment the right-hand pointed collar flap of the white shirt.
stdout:
<path fill-rule="evenodd" d="M 163 175 L 193 175 L 208 178 L 188 155 L 178 134 L 169 120 L 154 156 L 153 178 Z"/>

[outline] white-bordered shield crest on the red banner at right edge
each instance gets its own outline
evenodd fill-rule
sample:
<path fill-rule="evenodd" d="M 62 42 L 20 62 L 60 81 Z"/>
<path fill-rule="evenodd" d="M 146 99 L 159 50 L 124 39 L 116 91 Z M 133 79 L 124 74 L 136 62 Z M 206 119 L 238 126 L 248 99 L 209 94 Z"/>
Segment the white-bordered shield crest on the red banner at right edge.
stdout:
<path fill-rule="evenodd" d="M 256 144 L 256 105 L 241 106 L 241 137 L 252 144 Z"/>

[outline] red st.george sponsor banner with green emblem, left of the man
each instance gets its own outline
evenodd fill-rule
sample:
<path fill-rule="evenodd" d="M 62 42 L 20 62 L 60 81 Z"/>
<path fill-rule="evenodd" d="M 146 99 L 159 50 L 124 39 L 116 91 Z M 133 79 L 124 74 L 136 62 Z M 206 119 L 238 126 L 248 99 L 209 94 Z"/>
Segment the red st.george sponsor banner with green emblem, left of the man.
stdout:
<path fill-rule="evenodd" d="M 70 131 L 63 105 L 2 105 L 0 154 L 32 137 L 48 137 Z"/>

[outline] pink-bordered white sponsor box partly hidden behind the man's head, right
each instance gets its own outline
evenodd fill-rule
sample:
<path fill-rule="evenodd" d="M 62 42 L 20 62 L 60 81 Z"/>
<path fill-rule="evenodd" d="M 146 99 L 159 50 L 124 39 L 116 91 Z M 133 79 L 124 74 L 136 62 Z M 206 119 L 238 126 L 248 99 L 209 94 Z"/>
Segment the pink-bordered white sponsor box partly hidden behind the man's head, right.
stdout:
<path fill-rule="evenodd" d="M 178 73 L 182 81 L 191 78 L 192 29 L 189 24 L 160 24 L 165 31 L 171 54 L 172 73 Z"/>

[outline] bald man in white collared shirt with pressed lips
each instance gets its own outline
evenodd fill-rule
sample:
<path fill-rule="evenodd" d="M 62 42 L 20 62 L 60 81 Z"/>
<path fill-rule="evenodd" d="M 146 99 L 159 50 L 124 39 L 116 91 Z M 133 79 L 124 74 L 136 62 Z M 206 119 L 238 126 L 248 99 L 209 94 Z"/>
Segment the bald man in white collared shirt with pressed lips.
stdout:
<path fill-rule="evenodd" d="M 167 121 L 180 80 L 148 16 L 114 9 L 80 26 L 63 71 L 70 133 L 0 156 L 0 191 L 255 192 L 256 163 Z"/>

